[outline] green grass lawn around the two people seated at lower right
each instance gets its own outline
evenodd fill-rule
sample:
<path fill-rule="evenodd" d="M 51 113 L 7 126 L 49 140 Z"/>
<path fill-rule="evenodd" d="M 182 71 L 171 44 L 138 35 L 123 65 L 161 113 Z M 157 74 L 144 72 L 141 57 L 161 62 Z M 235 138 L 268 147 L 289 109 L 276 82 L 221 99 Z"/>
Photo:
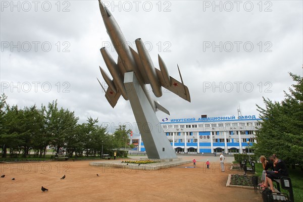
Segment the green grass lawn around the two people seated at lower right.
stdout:
<path fill-rule="evenodd" d="M 256 163 L 255 166 L 256 166 L 257 175 L 261 179 L 261 175 L 263 171 L 262 164 Z M 303 198 L 303 172 L 298 167 L 296 167 L 296 169 L 292 169 L 291 167 L 289 167 L 288 172 L 289 172 L 289 177 L 291 179 L 294 201 L 301 201 L 301 199 Z M 282 188 L 281 188 L 281 192 L 288 193 L 287 190 L 283 190 Z"/>

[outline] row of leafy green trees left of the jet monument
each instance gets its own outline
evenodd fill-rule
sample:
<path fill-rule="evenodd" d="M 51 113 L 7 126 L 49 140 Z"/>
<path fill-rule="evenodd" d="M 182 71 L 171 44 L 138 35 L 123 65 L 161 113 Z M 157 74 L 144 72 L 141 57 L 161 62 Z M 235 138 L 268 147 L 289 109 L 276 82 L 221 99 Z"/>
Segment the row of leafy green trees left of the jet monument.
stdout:
<path fill-rule="evenodd" d="M 79 117 L 68 109 L 58 108 L 57 100 L 47 106 L 36 105 L 19 109 L 17 105 L 7 104 L 7 96 L 0 97 L 0 147 L 2 157 L 10 153 L 22 153 L 26 158 L 30 150 L 41 158 L 45 157 L 46 147 L 66 148 L 69 157 L 97 156 L 102 151 L 124 147 L 129 141 L 126 126 L 119 126 L 114 134 L 99 126 L 98 119 L 88 118 L 86 123 L 78 124 Z"/>

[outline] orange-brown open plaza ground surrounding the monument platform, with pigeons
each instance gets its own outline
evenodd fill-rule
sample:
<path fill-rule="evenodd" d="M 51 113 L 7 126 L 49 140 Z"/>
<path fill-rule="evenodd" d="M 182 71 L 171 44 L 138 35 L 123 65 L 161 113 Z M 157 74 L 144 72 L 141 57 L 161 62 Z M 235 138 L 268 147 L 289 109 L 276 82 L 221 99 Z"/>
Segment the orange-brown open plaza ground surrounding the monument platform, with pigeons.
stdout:
<path fill-rule="evenodd" d="M 230 171 L 233 157 L 226 158 L 226 172 L 219 169 L 219 157 L 178 157 L 195 158 L 196 167 L 188 163 L 132 170 L 90 166 L 92 161 L 2 163 L 0 174 L 6 177 L 0 179 L 0 201 L 262 201 L 253 189 L 226 187 L 228 174 L 239 173 Z M 207 160 L 210 169 L 206 169 Z M 63 175 L 66 178 L 60 179 Z M 48 192 L 42 192 L 41 186 Z"/>

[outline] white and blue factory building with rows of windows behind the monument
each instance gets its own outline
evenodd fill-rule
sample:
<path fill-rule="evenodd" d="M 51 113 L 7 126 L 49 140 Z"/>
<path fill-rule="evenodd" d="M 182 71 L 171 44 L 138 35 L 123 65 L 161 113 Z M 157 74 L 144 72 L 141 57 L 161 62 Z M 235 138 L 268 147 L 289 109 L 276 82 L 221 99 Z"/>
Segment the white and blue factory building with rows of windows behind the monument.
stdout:
<path fill-rule="evenodd" d="M 261 127 L 256 116 L 162 119 L 161 125 L 176 153 L 243 154 L 256 142 Z M 249 143 L 249 145 L 248 145 Z M 139 151 L 145 151 L 140 136 Z"/>

